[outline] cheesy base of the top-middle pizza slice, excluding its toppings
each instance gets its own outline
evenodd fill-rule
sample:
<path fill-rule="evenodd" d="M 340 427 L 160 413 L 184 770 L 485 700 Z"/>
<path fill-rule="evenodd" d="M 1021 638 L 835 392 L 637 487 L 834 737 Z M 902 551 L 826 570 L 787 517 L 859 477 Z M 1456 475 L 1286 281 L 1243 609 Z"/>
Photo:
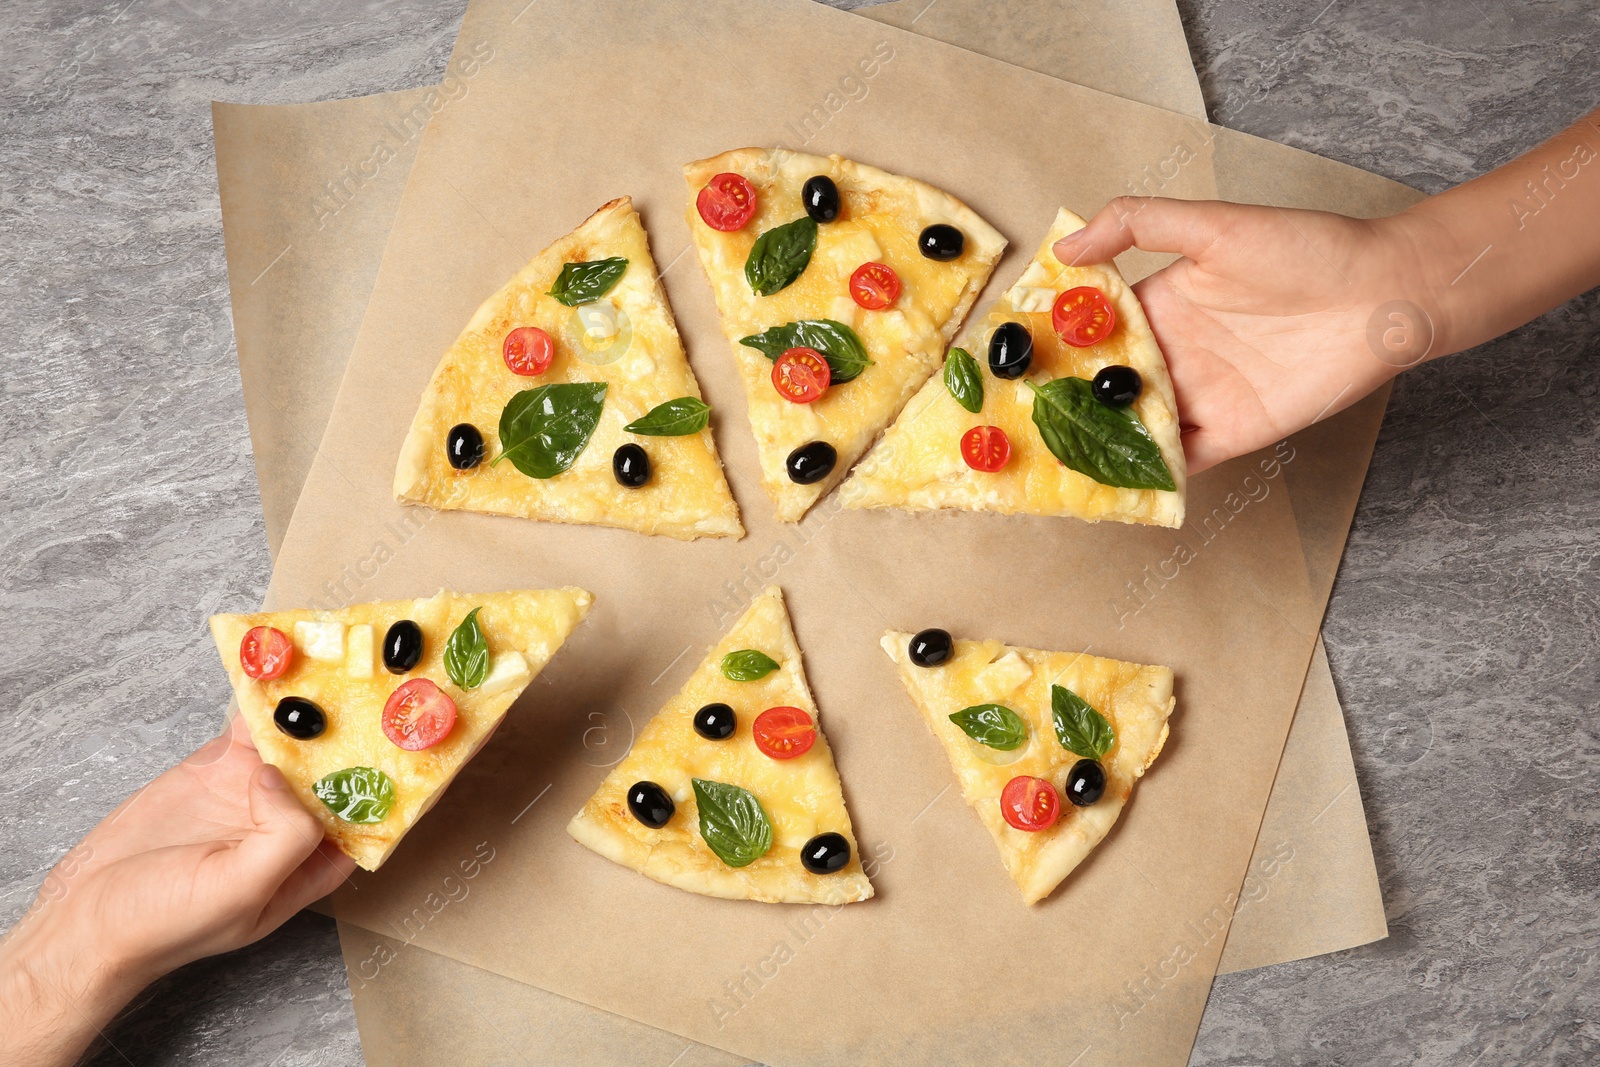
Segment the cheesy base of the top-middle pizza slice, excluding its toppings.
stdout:
<path fill-rule="evenodd" d="M 755 187 L 758 210 L 744 229 L 725 234 L 706 226 L 694 208 L 701 187 L 723 171 Z M 787 288 L 757 296 L 744 262 L 760 234 L 805 214 L 800 189 L 827 174 L 843 210 L 818 227 L 811 262 Z M 978 291 L 989 280 L 1005 238 L 966 205 L 910 178 L 851 163 L 763 149 L 739 149 L 685 168 L 690 232 L 710 277 L 723 330 L 733 346 L 750 403 L 750 427 L 762 458 L 762 482 L 778 502 L 778 517 L 797 522 L 832 488 L 867 445 L 931 374 Z M 946 222 L 966 238 L 949 262 L 917 250 L 923 227 Z M 850 275 L 864 262 L 885 262 L 901 278 L 901 296 L 886 310 L 864 310 L 850 296 Z M 741 338 L 802 318 L 834 318 L 853 328 L 874 365 L 810 405 L 789 403 L 773 387 L 773 363 Z M 838 451 L 832 474 L 813 485 L 789 480 L 784 461 L 810 442 Z"/>

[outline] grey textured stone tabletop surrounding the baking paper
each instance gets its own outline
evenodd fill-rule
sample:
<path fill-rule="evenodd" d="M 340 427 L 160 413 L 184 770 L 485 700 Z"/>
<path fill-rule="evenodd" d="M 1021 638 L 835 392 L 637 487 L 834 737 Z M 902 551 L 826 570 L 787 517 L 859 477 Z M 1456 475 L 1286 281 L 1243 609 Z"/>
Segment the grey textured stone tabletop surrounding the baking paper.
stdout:
<path fill-rule="evenodd" d="M 1182 8 L 1218 122 L 1426 190 L 1600 101 L 1590 0 Z M 210 736 L 205 616 L 267 582 L 208 102 L 437 80 L 459 14 L 0 6 L 0 923 Z M 1195 1064 L 1600 1061 L 1597 347 L 1589 294 L 1400 379 L 1326 622 L 1394 933 L 1218 981 Z M 362 1061 L 310 915 L 109 1041 L 96 1062 Z"/>

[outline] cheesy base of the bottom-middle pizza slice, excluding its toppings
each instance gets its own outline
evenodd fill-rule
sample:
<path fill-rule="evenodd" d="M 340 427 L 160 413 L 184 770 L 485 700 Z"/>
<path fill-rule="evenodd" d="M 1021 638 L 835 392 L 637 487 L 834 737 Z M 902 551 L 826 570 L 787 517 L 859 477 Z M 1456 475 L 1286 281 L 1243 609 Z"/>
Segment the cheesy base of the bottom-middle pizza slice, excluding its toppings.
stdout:
<path fill-rule="evenodd" d="M 757 681 L 730 681 L 722 657 L 755 648 L 779 669 Z M 725 741 L 694 733 L 694 712 L 706 704 L 733 707 L 738 729 Z M 794 760 L 773 760 L 755 747 L 750 725 L 768 707 L 798 707 L 818 725 L 816 744 Z M 773 824 L 773 846 L 747 867 L 728 867 L 699 835 L 699 813 L 690 779 L 701 777 L 750 790 Z M 627 790 L 640 781 L 661 785 L 677 811 L 659 830 L 627 808 Z M 602 856 L 658 881 L 709 896 L 843 904 L 872 896 L 845 811 L 834 753 L 800 665 L 782 595 L 770 589 L 694 670 L 688 685 L 650 720 L 629 755 L 606 776 L 568 830 Z M 843 833 L 850 864 L 830 875 L 800 865 L 800 848 L 818 833 Z"/>

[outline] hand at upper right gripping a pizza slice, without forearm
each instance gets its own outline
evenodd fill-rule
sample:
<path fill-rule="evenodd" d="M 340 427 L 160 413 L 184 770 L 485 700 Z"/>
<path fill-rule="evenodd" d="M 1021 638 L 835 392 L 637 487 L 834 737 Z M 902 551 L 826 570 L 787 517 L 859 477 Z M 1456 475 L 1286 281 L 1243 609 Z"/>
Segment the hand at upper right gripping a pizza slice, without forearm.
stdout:
<path fill-rule="evenodd" d="M 1350 219 L 1219 202 L 1118 197 L 1056 243 L 1066 264 L 1131 246 L 1184 258 L 1139 282 L 1178 395 L 1189 472 L 1251 453 L 1438 355 L 1443 240 L 1410 216 Z M 1384 304 L 1400 301 L 1394 318 Z M 1382 342 L 1370 339 L 1378 315 Z M 1406 330 L 1411 330 L 1406 334 Z M 1432 350 L 1430 350 L 1432 349 Z"/>

